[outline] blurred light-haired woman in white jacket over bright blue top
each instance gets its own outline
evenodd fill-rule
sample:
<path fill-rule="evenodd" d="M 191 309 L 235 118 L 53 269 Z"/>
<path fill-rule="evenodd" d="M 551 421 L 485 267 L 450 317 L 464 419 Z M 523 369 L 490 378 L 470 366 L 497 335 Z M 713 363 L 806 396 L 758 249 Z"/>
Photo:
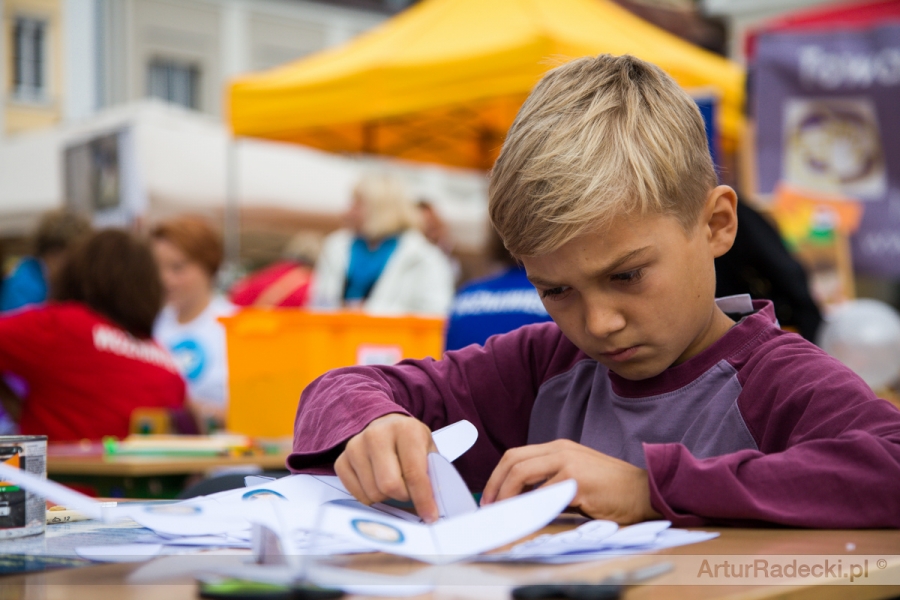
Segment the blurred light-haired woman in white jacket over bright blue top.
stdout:
<path fill-rule="evenodd" d="M 313 306 L 372 314 L 446 315 L 453 299 L 449 261 L 416 228 L 403 184 L 384 173 L 353 190 L 348 228 L 325 240 L 316 263 Z"/>

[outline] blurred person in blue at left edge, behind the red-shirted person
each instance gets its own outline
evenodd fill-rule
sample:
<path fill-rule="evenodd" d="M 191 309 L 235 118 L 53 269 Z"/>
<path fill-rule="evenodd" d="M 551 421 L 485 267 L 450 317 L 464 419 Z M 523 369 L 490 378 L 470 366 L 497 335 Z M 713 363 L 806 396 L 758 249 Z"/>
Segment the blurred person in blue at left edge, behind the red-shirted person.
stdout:
<path fill-rule="evenodd" d="M 22 257 L 0 286 L 0 312 L 43 304 L 47 282 L 62 264 L 73 242 L 89 233 L 90 222 L 75 213 L 46 213 L 32 236 L 32 256 Z"/>

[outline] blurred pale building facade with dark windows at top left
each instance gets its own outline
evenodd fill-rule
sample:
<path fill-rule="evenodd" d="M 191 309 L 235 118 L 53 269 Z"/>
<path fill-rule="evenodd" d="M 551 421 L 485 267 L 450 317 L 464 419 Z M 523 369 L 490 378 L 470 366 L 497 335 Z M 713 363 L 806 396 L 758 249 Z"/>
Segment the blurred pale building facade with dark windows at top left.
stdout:
<path fill-rule="evenodd" d="M 225 82 L 340 44 L 409 0 L 0 0 L 0 135 L 153 97 L 221 116 Z"/>

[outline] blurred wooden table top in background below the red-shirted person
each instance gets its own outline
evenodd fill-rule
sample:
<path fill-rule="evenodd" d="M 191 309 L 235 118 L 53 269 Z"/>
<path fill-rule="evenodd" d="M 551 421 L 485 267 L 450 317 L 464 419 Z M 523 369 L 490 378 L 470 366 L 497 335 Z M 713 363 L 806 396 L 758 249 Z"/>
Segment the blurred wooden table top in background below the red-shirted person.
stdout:
<path fill-rule="evenodd" d="M 285 468 L 287 455 L 287 449 L 235 456 L 110 455 L 103 454 L 96 444 L 85 446 L 83 451 L 78 445 L 51 445 L 47 450 L 47 474 L 148 477 L 202 473 L 219 467 L 244 465 L 280 470 Z"/>

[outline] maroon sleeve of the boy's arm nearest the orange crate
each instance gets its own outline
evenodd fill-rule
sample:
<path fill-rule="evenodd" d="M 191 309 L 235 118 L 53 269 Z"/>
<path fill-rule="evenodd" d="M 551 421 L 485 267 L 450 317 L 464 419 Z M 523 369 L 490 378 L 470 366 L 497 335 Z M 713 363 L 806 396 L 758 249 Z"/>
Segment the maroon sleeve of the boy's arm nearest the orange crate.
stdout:
<path fill-rule="evenodd" d="M 567 368 L 572 348 L 555 324 L 542 323 L 441 360 L 326 373 L 301 395 L 288 466 L 330 466 L 349 438 L 389 413 L 413 416 L 432 430 L 467 419 L 478 440 L 455 464 L 470 487 L 482 489 L 503 452 L 525 444 L 538 388 Z"/>

